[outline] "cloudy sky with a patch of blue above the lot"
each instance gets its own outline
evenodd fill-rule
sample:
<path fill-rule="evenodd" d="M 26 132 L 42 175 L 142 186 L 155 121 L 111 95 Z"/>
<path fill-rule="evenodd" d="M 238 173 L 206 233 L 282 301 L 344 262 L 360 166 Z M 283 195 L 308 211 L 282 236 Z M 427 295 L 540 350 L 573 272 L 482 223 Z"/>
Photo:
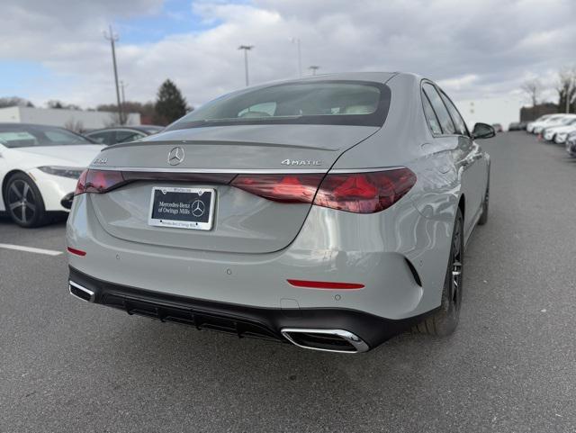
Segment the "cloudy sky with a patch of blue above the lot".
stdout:
<path fill-rule="evenodd" d="M 417 72 L 464 112 L 517 113 L 523 80 L 552 87 L 576 63 L 575 19 L 573 0 L 2 0 L 0 96 L 114 102 L 112 23 L 129 100 L 154 99 L 167 77 L 196 106 L 244 86 L 240 44 L 255 46 L 251 83 L 297 77 L 299 38 L 304 74 Z"/>

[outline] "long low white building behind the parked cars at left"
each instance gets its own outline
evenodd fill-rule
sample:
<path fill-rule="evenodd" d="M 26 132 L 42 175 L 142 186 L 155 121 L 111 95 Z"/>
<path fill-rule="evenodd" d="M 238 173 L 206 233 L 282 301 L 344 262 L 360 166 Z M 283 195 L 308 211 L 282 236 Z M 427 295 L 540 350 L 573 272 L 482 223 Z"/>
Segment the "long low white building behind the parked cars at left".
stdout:
<path fill-rule="evenodd" d="M 38 123 L 61 126 L 70 130 L 95 130 L 117 124 L 118 114 L 111 112 L 84 112 L 57 108 L 6 107 L 0 108 L 0 122 Z M 129 125 L 140 124 L 139 113 L 128 113 Z"/>

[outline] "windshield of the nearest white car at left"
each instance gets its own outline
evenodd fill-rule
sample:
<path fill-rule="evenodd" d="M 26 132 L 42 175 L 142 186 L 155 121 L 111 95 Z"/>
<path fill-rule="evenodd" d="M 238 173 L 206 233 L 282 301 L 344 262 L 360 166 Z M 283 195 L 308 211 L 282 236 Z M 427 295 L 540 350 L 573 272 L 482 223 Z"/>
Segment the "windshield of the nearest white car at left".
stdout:
<path fill-rule="evenodd" d="M 62 128 L 49 126 L 0 124 L 0 143 L 6 148 L 30 148 L 33 146 L 62 146 L 67 144 L 93 144 L 81 135 Z"/>

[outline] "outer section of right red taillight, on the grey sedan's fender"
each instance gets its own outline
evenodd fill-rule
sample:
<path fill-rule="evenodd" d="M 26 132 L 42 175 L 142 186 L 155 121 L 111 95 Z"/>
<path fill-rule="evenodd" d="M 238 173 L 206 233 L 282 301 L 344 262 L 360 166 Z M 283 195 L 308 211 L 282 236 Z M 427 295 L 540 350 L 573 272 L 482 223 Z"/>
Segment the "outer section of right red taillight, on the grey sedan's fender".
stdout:
<path fill-rule="evenodd" d="M 314 199 L 317 206 L 347 212 L 374 213 L 388 209 L 416 184 L 409 168 L 326 176 Z"/>

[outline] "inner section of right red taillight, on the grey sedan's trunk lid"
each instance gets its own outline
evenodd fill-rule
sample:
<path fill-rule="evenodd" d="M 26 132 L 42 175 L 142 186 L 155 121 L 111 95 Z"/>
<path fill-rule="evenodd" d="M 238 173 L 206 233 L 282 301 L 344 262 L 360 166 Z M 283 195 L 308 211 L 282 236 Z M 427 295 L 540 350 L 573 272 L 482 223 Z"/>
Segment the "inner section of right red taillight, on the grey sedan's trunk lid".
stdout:
<path fill-rule="evenodd" d="M 275 202 L 312 203 L 323 176 L 238 175 L 231 185 Z"/>

